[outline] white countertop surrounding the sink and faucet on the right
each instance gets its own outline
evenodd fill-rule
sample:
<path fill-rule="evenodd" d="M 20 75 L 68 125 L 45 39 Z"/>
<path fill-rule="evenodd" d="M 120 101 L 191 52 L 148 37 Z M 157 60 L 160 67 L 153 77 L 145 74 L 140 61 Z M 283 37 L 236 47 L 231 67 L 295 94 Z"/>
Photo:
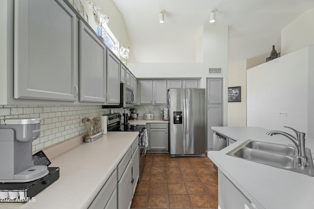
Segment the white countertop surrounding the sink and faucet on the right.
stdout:
<path fill-rule="evenodd" d="M 236 142 L 220 151 L 209 151 L 209 159 L 258 209 L 314 208 L 314 177 L 226 155 L 248 139 L 279 144 L 293 144 L 292 141 L 281 135 L 267 136 L 270 130 L 258 127 L 211 129 Z M 313 153 L 314 139 L 306 139 L 305 145 Z"/>

